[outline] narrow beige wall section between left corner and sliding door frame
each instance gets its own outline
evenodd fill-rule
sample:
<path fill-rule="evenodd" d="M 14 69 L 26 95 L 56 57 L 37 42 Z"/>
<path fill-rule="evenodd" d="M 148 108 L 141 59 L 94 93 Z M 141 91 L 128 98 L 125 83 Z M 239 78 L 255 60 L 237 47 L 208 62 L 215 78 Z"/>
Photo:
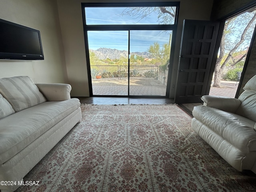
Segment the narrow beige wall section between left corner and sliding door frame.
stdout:
<path fill-rule="evenodd" d="M 72 96 L 90 96 L 80 0 L 57 0 L 68 82 Z"/>

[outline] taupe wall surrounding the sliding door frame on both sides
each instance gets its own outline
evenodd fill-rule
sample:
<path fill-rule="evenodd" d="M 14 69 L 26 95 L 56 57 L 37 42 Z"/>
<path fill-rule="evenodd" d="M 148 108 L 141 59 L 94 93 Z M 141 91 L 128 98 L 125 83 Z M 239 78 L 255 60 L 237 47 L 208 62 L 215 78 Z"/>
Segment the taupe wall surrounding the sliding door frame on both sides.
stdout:
<path fill-rule="evenodd" d="M 145 2 L 146 6 L 146 2 L 154 1 L 57 0 L 68 81 L 72 85 L 73 91 L 72 96 L 89 96 L 81 2 Z M 180 13 L 178 16 L 178 30 L 174 52 L 170 98 L 174 98 L 175 93 L 183 20 L 210 20 L 212 3 L 213 0 L 180 0 Z"/>

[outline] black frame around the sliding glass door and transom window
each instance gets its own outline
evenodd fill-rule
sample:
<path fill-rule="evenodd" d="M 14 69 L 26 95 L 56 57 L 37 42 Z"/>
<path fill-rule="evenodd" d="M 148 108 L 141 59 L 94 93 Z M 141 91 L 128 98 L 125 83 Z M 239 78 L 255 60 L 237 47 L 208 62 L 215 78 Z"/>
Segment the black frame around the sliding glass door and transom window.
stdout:
<path fill-rule="evenodd" d="M 171 52 L 170 52 L 170 64 L 168 70 L 168 80 L 166 86 L 166 96 L 164 98 L 169 98 L 170 93 L 170 81 L 172 75 L 172 68 L 173 68 L 173 60 L 174 60 L 174 49 L 175 49 L 175 40 L 176 40 L 176 32 L 178 27 L 178 14 L 180 8 L 180 2 L 147 2 L 145 6 L 145 2 L 111 2 L 111 3 L 81 3 L 82 5 L 82 19 L 83 19 L 83 28 L 84 28 L 84 43 L 85 43 L 85 51 L 86 51 L 86 63 L 87 63 L 87 72 L 88 78 L 91 79 L 91 72 L 90 72 L 90 58 L 89 58 L 89 46 L 88 46 L 88 35 L 87 31 L 114 31 L 114 30 L 172 30 L 172 44 L 171 44 Z M 156 7 L 156 6 L 176 6 L 176 14 L 174 18 L 174 24 L 125 24 L 125 25 L 87 25 L 86 24 L 86 14 L 85 8 L 86 7 Z M 94 96 L 92 94 L 92 81 L 89 79 L 89 92 L 90 96 Z M 127 96 L 126 96 L 127 97 Z M 128 97 L 130 96 L 128 94 Z M 135 96 L 139 97 L 139 96 Z"/>

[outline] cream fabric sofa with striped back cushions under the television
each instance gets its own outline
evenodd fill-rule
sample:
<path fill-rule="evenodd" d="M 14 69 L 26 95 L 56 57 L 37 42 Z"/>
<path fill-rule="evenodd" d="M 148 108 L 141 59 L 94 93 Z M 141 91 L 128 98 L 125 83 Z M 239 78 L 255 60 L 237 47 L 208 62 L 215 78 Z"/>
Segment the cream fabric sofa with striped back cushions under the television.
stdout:
<path fill-rule="evenodd" d="M 0 79 L 1 192 L 23 177 L 81 120 L 69 84 L 34 84 L 28 76 Z"/>

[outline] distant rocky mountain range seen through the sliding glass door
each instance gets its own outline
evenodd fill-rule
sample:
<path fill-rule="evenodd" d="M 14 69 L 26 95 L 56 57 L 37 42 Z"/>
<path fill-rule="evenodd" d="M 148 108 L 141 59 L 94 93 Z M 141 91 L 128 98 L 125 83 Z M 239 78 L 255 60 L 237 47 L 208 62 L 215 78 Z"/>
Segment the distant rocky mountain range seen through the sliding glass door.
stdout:
<path fill-rule="evenodd" d="M 99 48 L 97 50 L 90 49 L 91 52 L 95 53 L 95 55 L 99 59 L 120 59 L 121 56 L 128 57 L 128 51 L 126 50 L 117 50 L 110 48 Z M 130 52 L 130 55 L 142 56 L 143 58 L 150 58 L 150 53 L 148 52 Z"/>

